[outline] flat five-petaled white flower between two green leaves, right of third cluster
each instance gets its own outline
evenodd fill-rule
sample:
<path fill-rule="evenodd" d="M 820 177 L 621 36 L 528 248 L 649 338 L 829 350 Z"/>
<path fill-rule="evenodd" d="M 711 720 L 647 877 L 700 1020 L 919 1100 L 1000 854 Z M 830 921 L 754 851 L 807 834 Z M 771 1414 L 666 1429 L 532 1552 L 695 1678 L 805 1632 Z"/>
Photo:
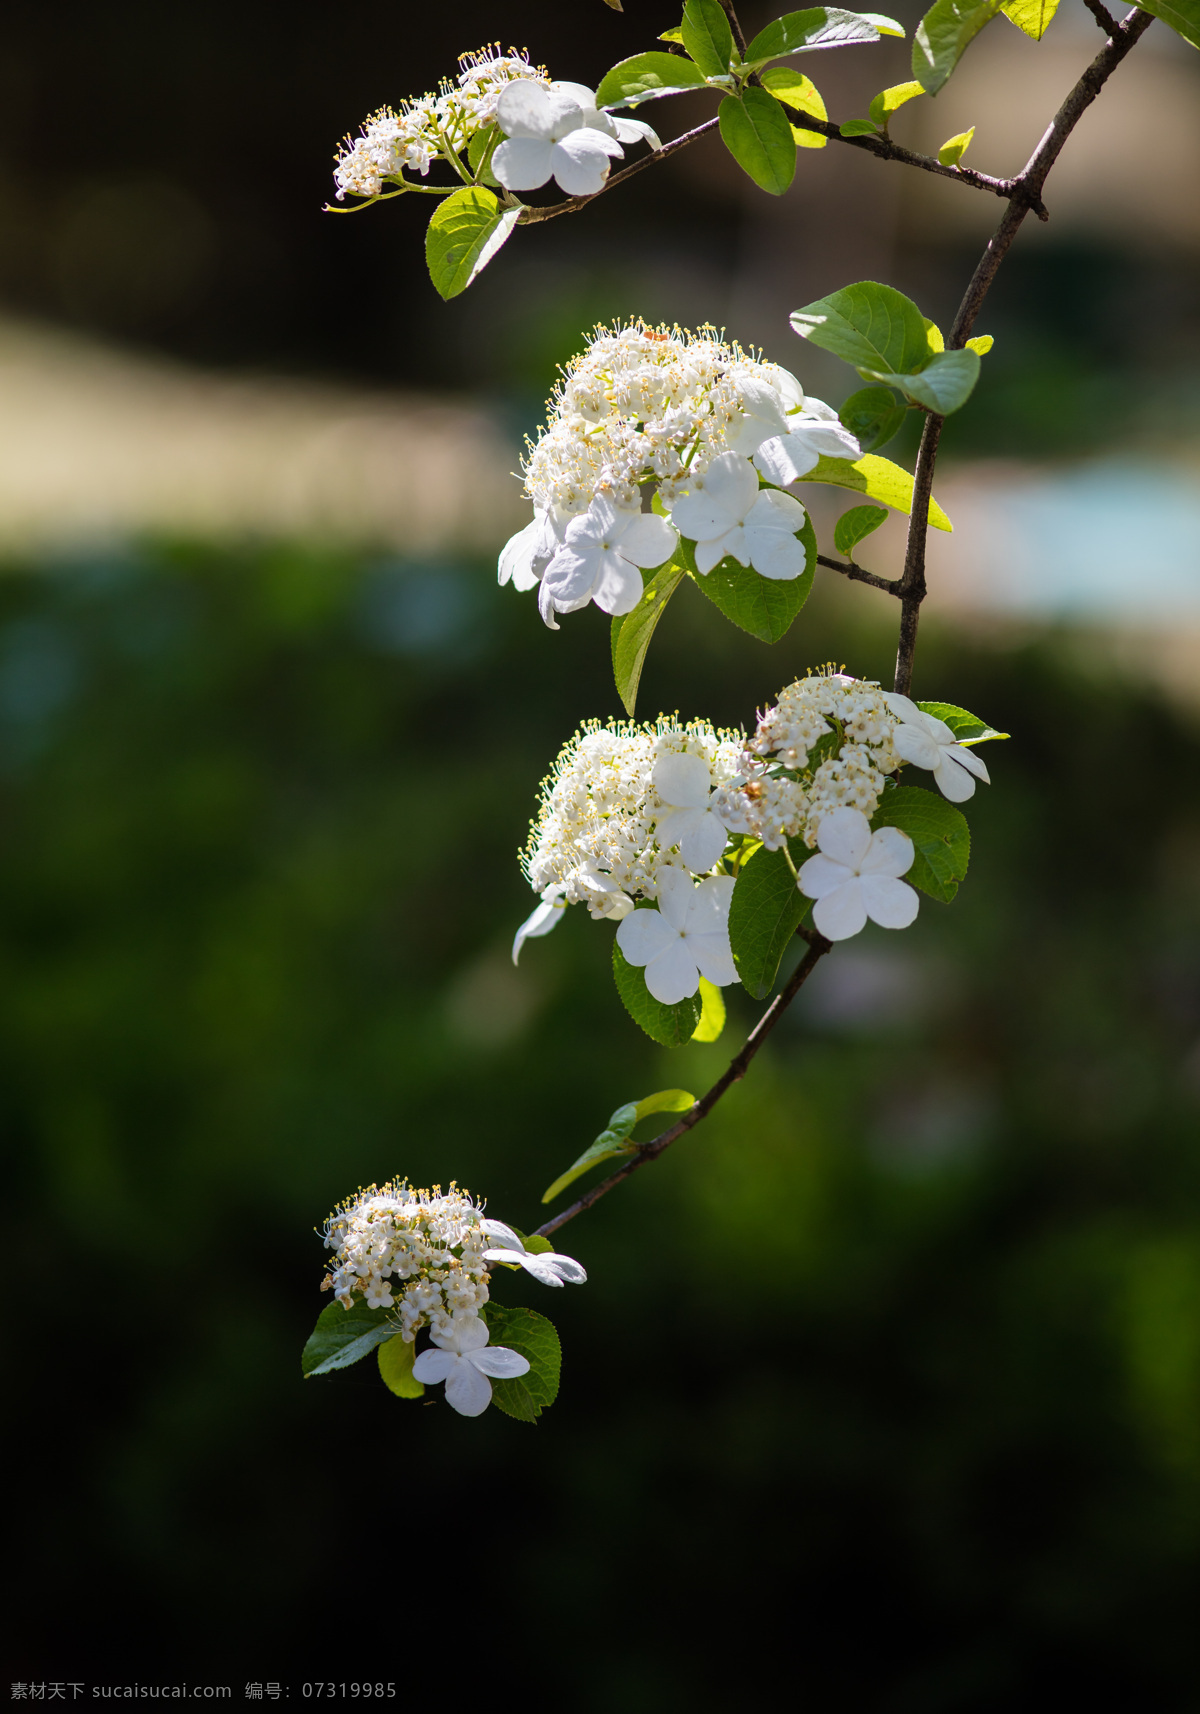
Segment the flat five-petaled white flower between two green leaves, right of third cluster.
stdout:
<path fill-rule="evenodd" d="M 861 809 L 835 809 L 816 833 L 821 854 L 801 864 L 799 888 L 814 898 L 813 922 L 830 941 L 847 941 L 866 927 L 907 929 L 921 900 L 898 876 L 915 850 L 900 828 L 871 831 Z"/>

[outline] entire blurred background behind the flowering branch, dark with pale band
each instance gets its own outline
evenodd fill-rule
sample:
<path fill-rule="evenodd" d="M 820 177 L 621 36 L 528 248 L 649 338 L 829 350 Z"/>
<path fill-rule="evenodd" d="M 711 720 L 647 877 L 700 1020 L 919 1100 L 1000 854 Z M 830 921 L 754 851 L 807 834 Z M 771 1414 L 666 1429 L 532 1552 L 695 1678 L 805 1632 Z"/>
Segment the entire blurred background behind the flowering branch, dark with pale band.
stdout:
<path fill-rule="evenodd" d="M 787 310 L 879 276 L 945 322 L 998 213 L 837 146 L 773 202 L 701 144 L 451 305 L 429 204 L 321 213 L 338 137 L 456 53 L 595 82 L 674 22 L 9 12 L 14 1681 L 1200 1705 L 1200 108 L 1161 24 L 948 434 L 917 689 L 1013 734 L 960 898 L 840 948 L 705 1130 L 564 1234 L 585 1289 L 506 1279 L 564 1340 L 537 1426 L 372 1363 L 300 1381 L 338 1198 L 456 1178 L 528 1229 L 615 1106 L 706 1087 L 754 1016 L 657 1049 L 578 912 L 509 962 L 537 783 L 615 711 L 603 620 L 550 636 L 492 583 L 555 362 L 598 315 L 711 317 L 838 403 Z M 977 120 L 1006 171 L 1099 41 L 1080 0 L 1041 46 L 1001 19 L 897 135 Z M 842 120 L 907 51 L 806 70 Z M 873 540 L 890 569 L 898 523 Z M 886 680 L 881 605 L 821 586 L 768 651 L 682 591 L 643 711 L 744 723 L 828 658 Z"/>

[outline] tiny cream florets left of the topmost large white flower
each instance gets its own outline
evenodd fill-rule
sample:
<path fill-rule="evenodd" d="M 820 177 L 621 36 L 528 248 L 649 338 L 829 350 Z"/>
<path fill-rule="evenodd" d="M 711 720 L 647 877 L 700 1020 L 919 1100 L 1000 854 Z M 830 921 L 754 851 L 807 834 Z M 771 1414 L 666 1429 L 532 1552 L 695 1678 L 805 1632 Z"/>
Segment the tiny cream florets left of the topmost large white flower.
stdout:
<path fill-rule="evenodd" d="M 506 84 L 518 79 L 549 87 L 549 72 L 530 65 L 528 55 L 499 43 L 459 57 L 459 74 L 446 79 L 437 94 L 405 101 L 399 111 L 381 108 L 363 123 L 360 137 L 346 137 L 338 154 L 334 182 L 338 201 L 377 197 L 386 180 L 399 180 L 405 168 L 425 177 L 437 156 L 466 149 L 477 130 L 490 125 Z"/>

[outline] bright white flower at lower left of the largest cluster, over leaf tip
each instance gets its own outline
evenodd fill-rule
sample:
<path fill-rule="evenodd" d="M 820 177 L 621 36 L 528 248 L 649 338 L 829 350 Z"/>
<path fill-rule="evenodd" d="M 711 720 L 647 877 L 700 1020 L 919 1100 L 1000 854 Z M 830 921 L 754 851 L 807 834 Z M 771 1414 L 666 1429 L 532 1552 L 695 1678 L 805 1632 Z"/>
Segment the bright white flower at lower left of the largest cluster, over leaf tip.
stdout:
<path fill-rule="evenodd" d="M 573 614 L 588 602 L 605 614 L 633 612 L 643 588 L 638 567 L 665 564 L 675 540 L 665 518 L 614 506 L 607 494 L 597 494 L 583 518 L 571 519 L 542 574 L 542 617 L 557 631 L 555 614 Z"/>

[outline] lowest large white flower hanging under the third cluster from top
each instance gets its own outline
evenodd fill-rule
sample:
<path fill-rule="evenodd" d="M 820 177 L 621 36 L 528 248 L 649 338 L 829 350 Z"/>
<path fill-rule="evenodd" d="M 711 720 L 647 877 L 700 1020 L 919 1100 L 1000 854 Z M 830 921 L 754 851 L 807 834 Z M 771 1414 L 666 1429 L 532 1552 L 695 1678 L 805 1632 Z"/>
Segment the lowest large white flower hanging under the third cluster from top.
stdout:
<path fill-rule="evenodd" d="M 729 950 L 734 878 L 710 876 L 693 886 L 682 869 L 658 871 L 658 910 L 634 910 L 617 929 L 631 965 L 645 965 L 646 987 L 663 1006 L 687 999 L 701 975 L 717 987 L 737 980 Z"/>

